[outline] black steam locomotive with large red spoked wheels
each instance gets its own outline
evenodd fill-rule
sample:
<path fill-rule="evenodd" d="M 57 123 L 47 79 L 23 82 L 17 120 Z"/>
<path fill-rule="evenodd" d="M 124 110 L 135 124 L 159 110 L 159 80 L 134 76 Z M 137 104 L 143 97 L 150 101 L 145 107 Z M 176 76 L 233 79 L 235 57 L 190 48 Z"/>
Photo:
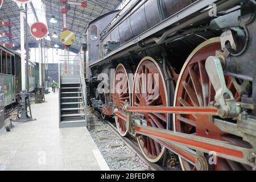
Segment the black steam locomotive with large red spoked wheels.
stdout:
<path fill-rule="evenodd" d="M 184 170 L 255 169 L 255 7 L 134 0 L 93 20 L 81 50 L 90 105 L 152 163 L 171 150 Z"/>

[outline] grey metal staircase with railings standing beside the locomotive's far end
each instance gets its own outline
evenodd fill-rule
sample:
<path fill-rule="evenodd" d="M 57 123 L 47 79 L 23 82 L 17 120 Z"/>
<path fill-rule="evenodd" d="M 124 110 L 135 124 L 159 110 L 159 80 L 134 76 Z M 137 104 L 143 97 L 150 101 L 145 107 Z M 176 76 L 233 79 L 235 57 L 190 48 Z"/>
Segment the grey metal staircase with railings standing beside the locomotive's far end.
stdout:
<path fill-rule="evenodd" d="M 64 56 L 64 59 L 60 60 L 59 72 L 59 127 L 87 126 L 82 55 Z"/>

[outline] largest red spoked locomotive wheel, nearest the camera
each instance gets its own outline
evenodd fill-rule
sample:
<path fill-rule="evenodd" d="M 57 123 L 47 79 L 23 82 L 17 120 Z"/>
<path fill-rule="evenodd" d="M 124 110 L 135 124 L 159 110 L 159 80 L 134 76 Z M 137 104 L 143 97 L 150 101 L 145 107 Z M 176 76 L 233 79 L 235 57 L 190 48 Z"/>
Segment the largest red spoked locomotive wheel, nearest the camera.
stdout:
<path fill-rule="evenodd" d="M 220 39 L 213 38 L 200 44 L 200 46 L 191 53 L 181 70 L 176 85 L 175 106 L 209 106 L 210 102 L 214 101 L 215 91 L 209 81 L 207 71 L 205 70 L 205 60 L 209 56 L 214 56 L 216 51 L 220 49 Z M 234 87 L 231 78 L 225 76 L 225 80 L 234 98 L 240 101 L 241 97 Z M 236 120 L 233 119 L 233 122 L 236 122 Z M 241 138 L 224 133 L 218 129 L 217 126 L 209 121 L 209 115 L 175 114 L 174 130 L 200 137 L 223 140 L 238 146 L 250 147 L 250 145 Z M 187 162 L 187 160 L 180 158 L 180 163 L 184 170 L 196 170 L 196 167 Z M 250 166 L 245 164 L 223 158 L 217 158 L 217 164 L 215 164 L 213 168 L 214 170 L 222 171 L 251 169 Z"/>

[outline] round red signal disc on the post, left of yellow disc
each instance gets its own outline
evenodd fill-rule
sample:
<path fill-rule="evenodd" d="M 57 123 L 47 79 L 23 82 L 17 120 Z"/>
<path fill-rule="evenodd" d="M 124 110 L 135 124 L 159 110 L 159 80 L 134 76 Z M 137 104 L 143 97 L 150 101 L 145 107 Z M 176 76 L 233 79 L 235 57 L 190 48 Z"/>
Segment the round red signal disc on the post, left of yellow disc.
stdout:
<path fill-rule="evenodd" d="M 31 35 L 36 39 L 43 39 L 48 34 L 48 28 L 44 23 L 36 22 L 30 28 Z"/>

